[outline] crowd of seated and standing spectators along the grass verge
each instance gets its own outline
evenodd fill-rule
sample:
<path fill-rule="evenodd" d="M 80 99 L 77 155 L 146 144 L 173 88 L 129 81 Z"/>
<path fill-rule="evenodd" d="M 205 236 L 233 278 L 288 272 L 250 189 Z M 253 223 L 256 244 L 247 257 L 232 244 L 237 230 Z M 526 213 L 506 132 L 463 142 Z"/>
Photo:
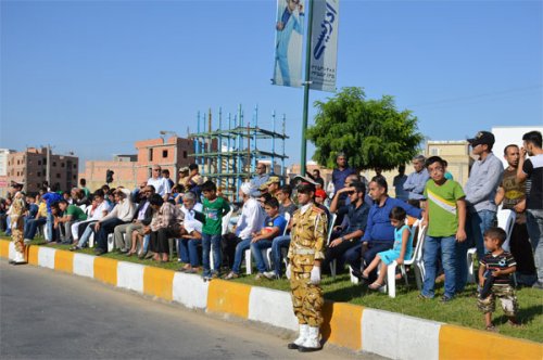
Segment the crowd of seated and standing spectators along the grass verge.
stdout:
<path fill-rule="evenodd" d="M 434 297 L 435 280 L 441 274 L 445 292 L 441 300 L 450 301 L 466 285 L 467 249 L 477 248 L 480 259 L 488 253 L 484 233 L 495 227 L 497 204 L 502 203 L 504 209 L 516 214 L 510 242 L 504 244 L 504 250 L 510 250 L 516 260 L 517 280 L 542 287 L 543 242 L 538 237 L 543 207 L 541 133 L 529 132 L 522 140 L 522 149 L 514 144 L 504 149 L 508 164 L 504 169 L 492 151 L 492 133 L 480 131 L 469 139 L 478 159 L 465 187 L 452 178 L 445 159 L 416 156 L 414 172 L 405 176 L 402 169 L 394 180 L 394 185 L 404 190 L 397 198 L 389 195 L 382 175 L 366 185 L 342 154 L 332 177 L 331 204 L 325 205 L 329 196 L 320 183 L 313 200 L 327 219 L 332 214 L 337 217 L 336 223 L 329 223 L 324 268 L 331 268 L 333 261 L 340 273 L 350 266 L 369 288 L 380 288 L 386 284 L 387 266 L 411 258 L 414 232 L 409 224 L 418 219 L 418 226 L 427 228 L 420 298 Z M 525 159 L 526 152 L 529 159 Z M 109 234 L 113 234 L 117 252 L 160 262 L 171 261 L 173 242 L 177 259 L 184 263 L 180 270 L 194 273 L 203 267 L 205 280 L 239 278 L 243 258 L 251 253 L 256 279 L 282 277 L 283 252 L 289 247 L 293 226 L 286 217 L 292 219 L 300 210 L 290 184 L 281 187 L 281 179 L 266 173 L 266 166 L 258 164 L 255 177 L 239 189 L 242 203 L 237 221 L 225 232 L 223 219 L 231 213 L 232 204 L 214 182 L 203 181 L 195 164 L 180 170 L 179 184 L 174 184 L 159 165 L 152 170 L 152 177 L 137 191 L 105 187 L 92 194 L 86 188 L 60 194 L 59 189 L 43 189 L 28 196 L 25 239 L 31 241 L 46 224 L 47 239 L 73 244 L 72 249 L 77 250 L 93 233 L 94 252 L 102 255 L 108 253 Z M 527 181 L 530 187 L 525 185 Z M 5 222 L 9 200 L 0 202 L 0 216 Z M 2 230 L 8 229 L 3 226 Z M 265 260 L 268 252 L 269 262 Z"/>

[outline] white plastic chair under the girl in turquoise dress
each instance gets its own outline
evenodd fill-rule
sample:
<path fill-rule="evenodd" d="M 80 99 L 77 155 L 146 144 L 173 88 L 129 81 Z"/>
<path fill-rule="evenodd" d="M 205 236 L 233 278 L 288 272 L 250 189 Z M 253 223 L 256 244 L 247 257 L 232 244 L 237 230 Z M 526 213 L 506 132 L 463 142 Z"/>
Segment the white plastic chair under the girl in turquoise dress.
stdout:
<path fill-rule="evenodd" d="M 405 280 L 405 285 L 409 285 L 407 281 L 407 272 L 405 271 L 405 267 L 414 266 L 415 271 L 415 281 L 417 283 L 417 287 L 422 288 L 422 279 L 424 279 L 424 260 L 422 260 L 422 248 L 425 245 L 426 237 L 426 227 L 418 227 L 418 221 L 413 224 L 413 231 L 416 231 L 418 228 L 417 234 L 417 244 L 415 245 L 415 249 L 413 250 L 413 256 L 409 260 L 404 260 L 404 263 L 400 266 L 400 271 L 402 272 L 402 277 Z M 397 262 L 392 261 L 391 265 L 387 268 L 387 290 L 390 297 L 396 297 L 396 267 Z"/>

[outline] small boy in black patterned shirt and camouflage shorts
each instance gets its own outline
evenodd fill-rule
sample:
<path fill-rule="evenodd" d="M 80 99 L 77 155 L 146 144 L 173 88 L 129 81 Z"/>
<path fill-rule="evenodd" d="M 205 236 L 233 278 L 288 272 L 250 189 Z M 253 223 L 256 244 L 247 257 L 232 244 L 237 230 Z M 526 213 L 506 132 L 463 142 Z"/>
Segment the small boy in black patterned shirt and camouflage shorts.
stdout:
<path fill-rule="evenodd" d="M 518 327 L 516 313 L 518 309 L 517 297 L 510 285 L 512 274 L 517 270 L 517 262 L 513 255 L 502 248 L 507 237 L 501 228 L 490 228 L 484 232 L 484 247 L 489 250 L 479 261 L 479 285 L 481 293 L 477 300 L 479 309 L 484 313 L 488 331 L 496 332 L 492 323 L 492 312 L 496 311 L 497 297 L 502 309 L 509 319 L 509 325 Z"/>

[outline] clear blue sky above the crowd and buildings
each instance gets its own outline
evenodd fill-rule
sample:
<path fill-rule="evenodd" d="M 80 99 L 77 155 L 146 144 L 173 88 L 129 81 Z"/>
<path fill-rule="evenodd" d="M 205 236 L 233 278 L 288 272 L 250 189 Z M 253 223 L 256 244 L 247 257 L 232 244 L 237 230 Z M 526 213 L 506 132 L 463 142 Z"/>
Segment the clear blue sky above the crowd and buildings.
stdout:
<path fill-rule="evenodd" d="M 111 159 L 161 130 L 194 132 L 198 112 L 216 128 L 241 104 L 261 127 L 286 115 L 298 163 L 303 90 L 270 83 L 276 7 L 1 0 L 0 147 Z M 427 139 L 543 124 L 543 1 L 341 0 L 339 16 L 337 88 L 393 95 Z"/>

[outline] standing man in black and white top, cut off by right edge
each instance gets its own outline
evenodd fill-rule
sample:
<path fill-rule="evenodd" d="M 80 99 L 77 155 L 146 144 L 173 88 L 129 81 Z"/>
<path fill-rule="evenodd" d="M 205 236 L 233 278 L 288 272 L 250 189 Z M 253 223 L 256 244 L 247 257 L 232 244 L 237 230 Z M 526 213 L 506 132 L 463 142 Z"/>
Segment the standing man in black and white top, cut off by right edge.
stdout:
<path fill-rule="evenodd" d="M 523 146 L 520 150 L 517 178 L 529 180 L 527 191 L 527 226 L 533 248 L 538 281 L 535 288 L 543 288 L 543 150 L 542 137 L 539 131 L 530 131 L 522 137 Z M 526 154 L 530 155 L 525 160 Z"/>

